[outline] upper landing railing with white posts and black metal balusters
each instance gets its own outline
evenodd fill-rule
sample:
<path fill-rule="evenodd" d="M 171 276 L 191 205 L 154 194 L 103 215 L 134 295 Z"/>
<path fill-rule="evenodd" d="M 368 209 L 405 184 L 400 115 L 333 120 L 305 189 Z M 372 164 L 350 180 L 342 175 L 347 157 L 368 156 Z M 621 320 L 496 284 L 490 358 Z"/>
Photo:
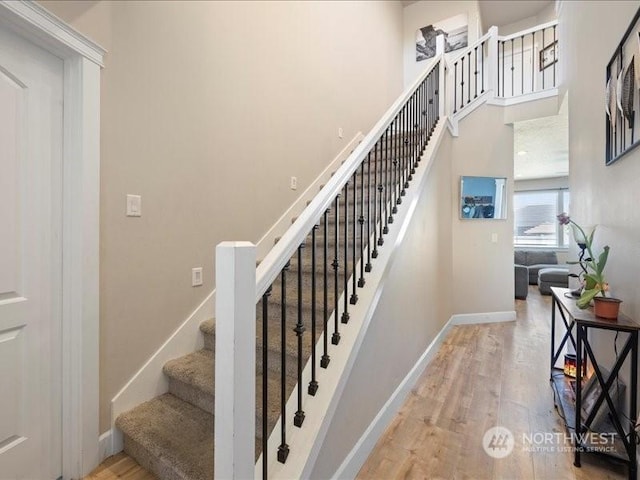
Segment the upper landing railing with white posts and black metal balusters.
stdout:
<path fill-rule="evenodd" d="M 447 113 L 455 116 L 486 92 L 504 104 L 544 96 L 557 88 L 557 21 L 507 36 L 498 28 L 447 60 Z M 536 95 L 533 95 L 536 94 Z"/>

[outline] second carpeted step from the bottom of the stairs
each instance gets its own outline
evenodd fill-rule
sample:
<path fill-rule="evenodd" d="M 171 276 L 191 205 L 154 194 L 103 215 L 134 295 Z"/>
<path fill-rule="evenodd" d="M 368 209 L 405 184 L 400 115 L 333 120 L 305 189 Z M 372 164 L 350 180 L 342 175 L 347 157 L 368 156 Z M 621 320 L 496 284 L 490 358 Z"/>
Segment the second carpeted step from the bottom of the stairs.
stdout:
<path fill-rule="evenodd" d="M 202 349 L 167 362 L 169 392 L 213 414 L 214 360 L 213 351 Z"/>

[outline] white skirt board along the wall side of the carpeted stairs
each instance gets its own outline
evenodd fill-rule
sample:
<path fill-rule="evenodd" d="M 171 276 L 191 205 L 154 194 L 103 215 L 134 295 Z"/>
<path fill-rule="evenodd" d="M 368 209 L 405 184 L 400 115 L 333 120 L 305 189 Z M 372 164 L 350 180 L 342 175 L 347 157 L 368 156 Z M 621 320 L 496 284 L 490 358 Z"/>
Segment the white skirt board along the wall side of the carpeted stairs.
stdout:
<path fill-rule="evenodd" d="M 358 132 L 262 236 L 256 244 L 258 259 L 273 247 L 276 239 L 290 227 L 292 219 L 300 215 L 307 202 L 326 184 L 333 172 L 345 162 L 363 138 L 362 132 Z M 202 322 L 214 316 L 215 294 L 214 288 L 111 399 L 111 429 L 107 432 L 110 439 L 106 440 L 106 448 L 101 449 L 100 461 L 123 450 L 122 432 L 116 427 L 118 416 L 169 391 L 169 381 L 163 373 L 163 366 L 169 360 L 187 355 L 204 346 L 199 328 Z"/>

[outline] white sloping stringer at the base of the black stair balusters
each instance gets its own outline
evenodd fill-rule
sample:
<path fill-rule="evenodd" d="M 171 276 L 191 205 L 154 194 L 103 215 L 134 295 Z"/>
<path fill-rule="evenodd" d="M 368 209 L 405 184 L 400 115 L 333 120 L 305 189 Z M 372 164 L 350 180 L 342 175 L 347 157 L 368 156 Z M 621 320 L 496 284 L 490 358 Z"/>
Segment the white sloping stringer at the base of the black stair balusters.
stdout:
<path fill-rule="evenodd" d="M 341 325 L 340 345 L 331 350 L 331 362 L 325 370 L 318 368 L 316 378 L 320 385 L 315 396 L 304 396 L 303 409 L 306 418 L 302 428 L 295 427 L 292 423 L 287 427 L 287 443 L 290 453 L 285 464 L 275 460 L 275 452 L 280 443 L 281 419 L 273 428 L 268 440 L 269 472 L 268 478 L 289 479 L 309 478 L 320 448 L 331 425 L 333 415 L 344 391 L 351 370 L 358 357 L 360 347 L 376 311 L 378 302 L 385 289 L 385 278 L 393 264 L 393 259 L 398 247 L 411 222 L 420 194 L 428 178 L 432 160 L 438 151 L 438 147 L 446 133 L 448 119 L 443 117 L 434 129 L 433 135 L 416 168 L 411 187 L 407 189 L 402 208 L 398 209 L 393 225 L 389 226 L 389 234 L 385 237 L 385 244 L 379 248 L 379 256 L 376 258 L 374 268 L 367 277 L 364 288 L 358 291 L 358 303 L 350 306 L 350 320 L 347 325 Z M 359 264 L 354 272 L 359 271 Z M 350 282 L 352 279 L 350 279 Z M 344 293 L 339 304 L 344 302 Z M 332 323 L 331 318 L 329 324 Z M 316 352 L 321 355 L 322 339 L 316 344 Z M 303 372 L 303 387 L 306 387 L 311 378 L 310 362 Z M 297 385 L 291 393 L 286 409 L 287 412 L 295 412 L 297 409 Z M 256 462 L 256 479 L 262 478 L 262 455 Z"/>

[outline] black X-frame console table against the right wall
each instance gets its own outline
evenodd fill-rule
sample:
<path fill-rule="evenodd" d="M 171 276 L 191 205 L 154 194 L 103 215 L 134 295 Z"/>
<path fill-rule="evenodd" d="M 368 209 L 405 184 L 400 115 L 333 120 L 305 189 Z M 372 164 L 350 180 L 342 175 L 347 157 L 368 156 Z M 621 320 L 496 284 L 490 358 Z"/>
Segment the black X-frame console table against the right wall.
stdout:
<path fill-rule="evenodd" d="M 582 452 L 597 453 L 626 463 L 629 470 L 629 479 L 636 480 L 636 434 L 633 426 L 637 421 L 638 331 L 640 330 L 640 324 L 623 314 L 620 314 L 617 320 L 606 320 L 596 317 L 592 309 L 581 310 L 576 306 L 576 298 L 571 296 L 568 288 L 551 287 L 551 295 L 550 382 L 555 392 L 556 408 L 564 418 L 567 432 L 573 439 L 575 447 L 574 465 L 580 467 L 580 455 Z M 556 312 L 559 315 L 556 315 Z M 562 319 L 566 332 L 559 344 L 556 345 L 556 321 L 558 317 Z M 598 364 L 598 359 L 589 341 L 589 332 L 593 330 L 612 330 L 621 332 L 626 337 L 624 346 L 619 350 L 615 364 L 608 376 L 606 376 L 608 372 L 604 371 Z M 575 391 L 572 388 L 570 379 L 564 375 L 564 371 L 555 367 L 567 342 L 571 342 L 576 351 Z M 630 359 L 631 365 L 630 378 L 626 383 L 629 389 L 629 411 L 625 414 L 622 412 L 622 408 L 619 408 L 611 398 L 610 390 L 616 381 L 620 368 L 627 359 Z M 593 408 L 589 412 L 583 411 L 583 369 L 593 370 L 600 392 L 596 397 L 595 403 L 593 403 Z M 611 444 L 608 444 L 606 449 L 602 448 L 603 444 L 601 442 L 593 442 L 594 437 L 589 435 L 601 406 L 608 409 L 609 412 L 607 433 L 611 434 L 609 437 Z M 596 437 L 596 440 L 598 438 Z"/>

